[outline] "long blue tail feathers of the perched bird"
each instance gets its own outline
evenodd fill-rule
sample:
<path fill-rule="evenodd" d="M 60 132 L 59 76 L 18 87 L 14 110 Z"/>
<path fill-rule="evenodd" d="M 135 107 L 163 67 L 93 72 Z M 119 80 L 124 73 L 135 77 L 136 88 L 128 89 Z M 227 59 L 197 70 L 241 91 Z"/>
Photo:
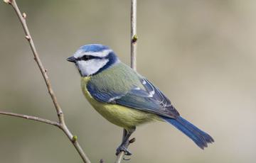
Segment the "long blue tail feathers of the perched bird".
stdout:
<path fill-rule="evenodd" d="M 203 132 L 199 128 L 197 128 L 192 123 L 188 122 L 188 120 L 185 120 L 181 116 L 178 116 L 177 118 L 168 118 L 165 116 L 161 116 L 164 120 L 166 120 L 168 123 L 171 123 L 171 125 L 174 125 L 178 130 L 181 130 L 182 133 L 187 135 L 188 137 L 193 140 L 193 142 L 198 145 L 198 147 L 201 147 L 203 149 L 204 147 L 207 147 L 207 143 L 214 142 L 213 137 L 210 137 L 207 133 Z"/>

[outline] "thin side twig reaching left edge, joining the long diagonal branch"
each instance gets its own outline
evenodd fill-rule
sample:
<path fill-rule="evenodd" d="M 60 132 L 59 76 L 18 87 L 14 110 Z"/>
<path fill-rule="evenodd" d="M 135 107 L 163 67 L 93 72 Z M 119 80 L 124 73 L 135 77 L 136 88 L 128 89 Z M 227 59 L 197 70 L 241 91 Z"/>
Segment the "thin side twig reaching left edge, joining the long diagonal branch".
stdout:
<path fill-rule="evenodd" d="M 25 114 L 10 113 L 10 112 L 5 112 L 5 111 L 0 111 L 0 114 L 6 115 L 6 116 L 14 116 L 14 117 L 18 117 L 18 118 L 24 118 L 24 119 L 28 119 L 28 120 L 35 120 L 35 121 L 38 121 L 38 122 L 41 122 L 41 123 L 46 123 L 48 125 L 55 125 L 57 127 L 60 127 L 60 123 L 58 123 L 58 122 L 55 122 L 53 120 L 40 118 L 40 117 L 36 117 L 36 116 L 28 116 L 28 115 L 25 115 Z"/>

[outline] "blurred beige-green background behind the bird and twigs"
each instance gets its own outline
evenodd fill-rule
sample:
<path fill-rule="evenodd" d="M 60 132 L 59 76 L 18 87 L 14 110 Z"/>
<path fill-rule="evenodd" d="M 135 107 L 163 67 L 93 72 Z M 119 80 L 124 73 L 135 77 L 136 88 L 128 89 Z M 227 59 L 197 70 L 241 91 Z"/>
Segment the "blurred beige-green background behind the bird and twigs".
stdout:
<path fill-rule="evenodd" d="M 26 11 L 68 127 L 92 162 L 114 162 L 122 129 L 87 103 L 66 58 L 102 43 L 129 64 L 130 1 L 17 0 Z M 167 123 L 137 128 L 128 162 L 255 162 L 256 1 L 139 1 L 138 71 L 183 117 L 210 133 L 201 150 Z M 0 3 L 0 109 L 55 120 L 48 91 L 11 6 Z M 0 162 L 81 162 L 60 130 L 0 115 Z"/>

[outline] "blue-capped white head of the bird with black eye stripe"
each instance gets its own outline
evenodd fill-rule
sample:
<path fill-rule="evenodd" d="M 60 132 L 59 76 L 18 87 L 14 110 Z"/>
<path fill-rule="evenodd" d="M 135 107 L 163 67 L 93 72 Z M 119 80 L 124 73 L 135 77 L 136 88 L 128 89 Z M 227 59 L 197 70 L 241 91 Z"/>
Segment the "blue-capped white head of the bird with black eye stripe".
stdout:
<path fill-rule="evenodd" d="M 84 45 L 67 60 L 75 63 L 82 77 L 102 72 L 119 62 L 117 55 L 110 47 L 100 44 Z"/>

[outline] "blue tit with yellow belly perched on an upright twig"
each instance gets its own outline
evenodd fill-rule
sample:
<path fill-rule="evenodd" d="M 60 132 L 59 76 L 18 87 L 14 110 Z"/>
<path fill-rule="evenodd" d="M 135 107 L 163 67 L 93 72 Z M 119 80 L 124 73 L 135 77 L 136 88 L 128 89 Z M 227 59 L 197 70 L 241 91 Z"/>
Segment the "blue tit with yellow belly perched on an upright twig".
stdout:
<path fill-rule="evenodd" d="M 82 93 L 95 110 L 124 128 L 124 137 L 116 154 L 127 150 L 129 137 L 137 126 L 154 121 L 174 125 L 201 149 L 214 142 L 213 137 L 180 116 L 171 101 L 151 81 L 119 60 L 110 47 L 101 44 L 81 46 L 71 57 L 81 76 Z"/>

